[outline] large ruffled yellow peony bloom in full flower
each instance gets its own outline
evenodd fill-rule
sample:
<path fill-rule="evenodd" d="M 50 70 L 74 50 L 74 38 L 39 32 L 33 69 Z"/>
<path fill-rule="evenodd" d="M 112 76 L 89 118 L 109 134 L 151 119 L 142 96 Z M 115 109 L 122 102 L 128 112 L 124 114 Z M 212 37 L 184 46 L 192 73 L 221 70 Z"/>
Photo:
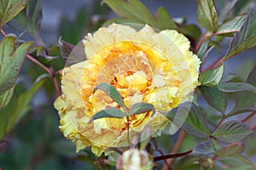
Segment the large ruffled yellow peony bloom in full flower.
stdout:
<path fill-rule="evenodd" d="M 76 144 L 77 151 L 91 146 L 100 156 L 108 147 L 129 145 L 126 118 L 89 123 L 98 111 L 120 108 L 103 91 L 93 94 L 96 85 L 113 85 L 128 108 L 137 102 L 154 105 L 154 115 L 150 111 L 129 117 L 133 139 L 145 129 L 150 135 L 160 135 L 169 122 L 160 111 L 191 100 L 199 83 L 200 59 L 189 51 L 188 39 L 177 31 L 156 32 L 150 26 L 137 31 L 113 24 L 88 34 L 83 43 L 87 60 L 63 69 L 63 94 L 55 101 L 61 132 Z"/>

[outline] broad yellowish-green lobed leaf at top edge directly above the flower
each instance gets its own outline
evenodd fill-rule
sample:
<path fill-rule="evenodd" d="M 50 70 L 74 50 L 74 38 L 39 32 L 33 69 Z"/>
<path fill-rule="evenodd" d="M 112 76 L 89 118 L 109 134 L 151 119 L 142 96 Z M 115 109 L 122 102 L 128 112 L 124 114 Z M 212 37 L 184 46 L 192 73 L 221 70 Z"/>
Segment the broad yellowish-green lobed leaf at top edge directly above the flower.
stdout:
<path fill-rule="evenodd" d="M 177 26 L 164 8 L 158 8 L 156 16 L 154 16 L 139 0 L 104 0 L 103 2 L 107 3 L 120 17 L 127 20 L 126 23 L 148 24 L 159 30 L 177 30 Z"/>

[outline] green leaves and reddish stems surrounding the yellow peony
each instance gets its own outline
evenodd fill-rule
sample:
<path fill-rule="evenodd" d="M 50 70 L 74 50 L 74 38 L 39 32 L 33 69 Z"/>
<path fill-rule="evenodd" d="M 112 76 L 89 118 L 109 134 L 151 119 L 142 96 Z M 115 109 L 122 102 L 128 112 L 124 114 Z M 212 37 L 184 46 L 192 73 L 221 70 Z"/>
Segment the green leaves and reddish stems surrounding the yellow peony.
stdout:
<path fill-rule="evenodd" d="M 255 48 L 256 8 L 247 9 L 253 0 L 222 2 L 224 8 L 217 8 L 217 1 L 197 0 L 194 12 L 198 23 L 191 25 L 172 18 L 167 6 L 153 14 L 139 0 L 96 1 L 92 8 L 79 10 L 76 21 L 62 18 L 60 44 L 47 47 L 39 36 L 44 17 L 40 0 L 0 1 L 0 169 L 112 169 L 120 153 L 129 149 L 113 148 L 113 155 L 100 157 L 88 148 L 76 153 L 74 145 L 58 132 L 59 119 L 52 105 L 61 94 L 59 73 L 75 44 L 85 32 L 113 22 L 177 30 L 189 38 L 191 50 L 201 59 L 201 84 L 195 89 L 193 102 L 162 113 L 175 122 L 177 110 L 188 111 L 190 105 L 181 130 L 131 147 L 147 150 L 157 168 L 165 169 L 167 164 L 173 169 L 255 168 L 256 64 L 247 78 L 225 74 L 224 65 Z M 110 9 L 117 14 L 115 18 L 106 17 Z M 93 20 L 95 15 L 98 20 Z M 10 20 L 15 20 L 17 29 L 23 26 L 32 39 L 9 32 L 6 25 Z M 212 59 L 212 49 L 224 50 L 221 42 L 226 37 L 231 37 L 227 39 L 230 47 Z M 119 92 L 107 83 L 98 84 L 95 93 L 98 90 L 108 94 L 120 109 L 99 111 L 90 122 L 155 112 L 154 105 L 144 102 L 128 109 Z M 182 121 L 182 117 L 176 120 Z M 167 158 L 176 159 L 163 161 Z"/>

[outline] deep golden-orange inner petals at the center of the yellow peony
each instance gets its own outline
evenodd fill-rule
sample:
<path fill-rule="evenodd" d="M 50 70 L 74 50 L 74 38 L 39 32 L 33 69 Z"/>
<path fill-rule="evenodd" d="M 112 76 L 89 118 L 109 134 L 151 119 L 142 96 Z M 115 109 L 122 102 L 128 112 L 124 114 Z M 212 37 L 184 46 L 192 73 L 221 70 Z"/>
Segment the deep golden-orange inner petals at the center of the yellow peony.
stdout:
<path fill-rule="evenodd" d="M 92 116 L 108 107 L 119 108 L 119 105 L 101 90 L 92 93 L 93 88 L 102 82 L 113 85 L 121 94 L 125 105 L 131 108 L 131 105 L 138 102 L 149 101 L 153 105 L 159 105 L 156 88 L 162 88 L 159 91 L 165 91 L 165 95 L 169 95 L 170 90 L 165 87 L 174 84 L 173 80 L 176 85 L 177 75 L 172 63 L 154 48 L 139 42 L 115 42 L 91 56 L 84 69 L 81 93 L 84 105 L 89 110 L 86 113 L 90 112 L 88 115 Z M 170 107 L 170 101 L 165 101 L 166 108 Z M 159 107 L 163 108 L 164 105 Z M 131 116 L 130 125 L 139 126 L 149 115 L 145 113 Z M 125 118 L 106 118 L 108 128 L 111 129 L 124 130 L 127 127 L 125 122 Z"/>

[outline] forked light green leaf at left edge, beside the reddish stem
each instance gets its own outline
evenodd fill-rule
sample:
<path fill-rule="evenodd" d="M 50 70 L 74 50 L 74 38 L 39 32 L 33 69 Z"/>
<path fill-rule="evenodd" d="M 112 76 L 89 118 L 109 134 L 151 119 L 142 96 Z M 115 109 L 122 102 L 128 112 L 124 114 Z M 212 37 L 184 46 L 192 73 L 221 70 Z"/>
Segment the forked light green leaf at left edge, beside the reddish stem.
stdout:
<path fill-rule="evenodd" d="M 15 38 L 4 37 L 0 42 L 0 95 L 15 86 L 26 51 L 32 42 L 26 42 L 15 49 Z"/>

